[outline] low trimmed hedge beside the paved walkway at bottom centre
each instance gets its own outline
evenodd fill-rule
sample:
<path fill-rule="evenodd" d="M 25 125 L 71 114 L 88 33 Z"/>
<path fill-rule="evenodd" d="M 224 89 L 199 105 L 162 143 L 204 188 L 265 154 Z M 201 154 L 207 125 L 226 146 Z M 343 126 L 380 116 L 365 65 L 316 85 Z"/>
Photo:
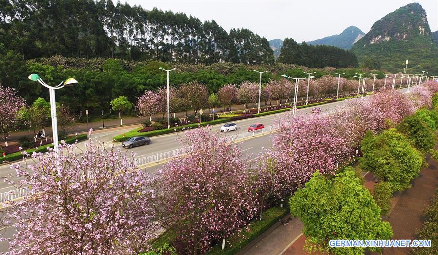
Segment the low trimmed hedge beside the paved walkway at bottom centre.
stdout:
<path fill-rule="evenodd" d="M 286 216 L 288 208 L 272 207 L 267 209 L 262 214 L 262 220 L 256 220 L 249 226 L 249 231 L 242 231 L 239 234 L 233 235 L 226 240 L 225 249 L 222 249 L 222 242 L 214 246 L 213 249 L 207 252 L 207 255 L 232 255 L 236 254 L 240 249 L 245 247 L 249 242 L 257 236 L 267 231 L 272 225 Z"/>

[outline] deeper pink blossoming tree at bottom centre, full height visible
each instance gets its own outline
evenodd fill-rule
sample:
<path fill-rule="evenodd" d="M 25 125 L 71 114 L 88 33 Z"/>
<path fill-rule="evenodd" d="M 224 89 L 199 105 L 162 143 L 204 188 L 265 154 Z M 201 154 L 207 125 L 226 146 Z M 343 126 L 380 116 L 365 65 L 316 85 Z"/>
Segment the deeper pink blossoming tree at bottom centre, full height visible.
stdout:
<path fill-rule="evenodd" d="M 187 131 L 180 142 L 189 155 L 159 171 L 154 189 L 160 222 L 176 234 L 179 253 L 199 254 L 237 233 L 257 212 L 240 145 L 210 128 Z"/>

